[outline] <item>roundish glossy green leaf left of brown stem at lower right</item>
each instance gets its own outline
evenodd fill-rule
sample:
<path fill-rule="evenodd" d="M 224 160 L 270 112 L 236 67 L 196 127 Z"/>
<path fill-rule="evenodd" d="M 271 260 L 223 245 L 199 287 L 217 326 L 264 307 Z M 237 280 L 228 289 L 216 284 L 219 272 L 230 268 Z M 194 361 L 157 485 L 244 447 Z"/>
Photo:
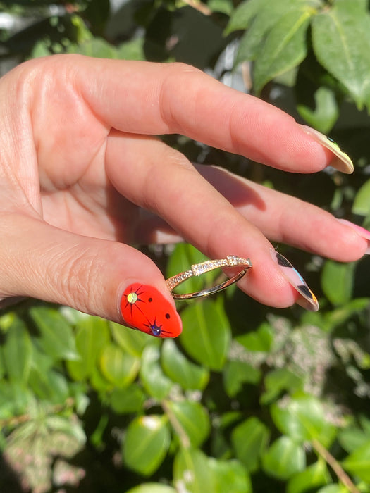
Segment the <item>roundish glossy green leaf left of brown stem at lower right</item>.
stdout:
<path fill-rule="evenodd" d="M 278 438 L 262 456 L 262 466 L 266 473 L 275 478 L 291 478 L 306 466 L 306 454 L 302 444 L 297 444 L 290 437 Z"/>

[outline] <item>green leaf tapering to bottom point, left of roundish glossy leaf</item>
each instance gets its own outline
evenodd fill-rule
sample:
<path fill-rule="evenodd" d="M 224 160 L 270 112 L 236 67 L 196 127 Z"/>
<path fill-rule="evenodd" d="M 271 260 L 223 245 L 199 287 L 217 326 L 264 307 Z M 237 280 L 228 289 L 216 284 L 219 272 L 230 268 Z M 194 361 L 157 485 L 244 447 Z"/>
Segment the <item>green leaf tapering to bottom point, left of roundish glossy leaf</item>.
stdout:
<path fill-rule="evenodd" d="M 234 428 L 231 442 L 236 457 L 250 473 L 257 470 L 259 458 L 269 442 L 269 429 L 258 418 L 248 418 Z"/>

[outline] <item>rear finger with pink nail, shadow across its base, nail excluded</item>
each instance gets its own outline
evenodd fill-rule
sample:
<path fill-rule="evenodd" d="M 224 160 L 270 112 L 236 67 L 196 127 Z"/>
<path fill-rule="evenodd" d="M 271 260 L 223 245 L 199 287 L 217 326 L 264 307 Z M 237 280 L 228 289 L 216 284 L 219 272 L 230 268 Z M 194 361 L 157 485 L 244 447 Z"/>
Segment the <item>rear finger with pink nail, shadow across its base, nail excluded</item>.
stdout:
<path fill-rule="evenodd" d="M 319 207 L 215 166 L 197 170 L 271 241 L 340 262 L 358 260 L 366 251 L 364 235 Z"/>

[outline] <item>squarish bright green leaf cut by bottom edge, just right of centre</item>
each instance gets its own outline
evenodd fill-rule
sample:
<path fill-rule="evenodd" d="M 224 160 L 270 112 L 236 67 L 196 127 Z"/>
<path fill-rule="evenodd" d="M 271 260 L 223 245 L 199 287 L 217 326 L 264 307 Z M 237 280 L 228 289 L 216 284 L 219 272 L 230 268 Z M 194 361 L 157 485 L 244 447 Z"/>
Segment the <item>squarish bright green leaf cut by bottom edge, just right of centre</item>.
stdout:
<path fill-rule="evenodd" d="M 210 457 L 208 463 L 215 482 L 212 493 L 252 493 L 251 480 L 240 462 Z"/>

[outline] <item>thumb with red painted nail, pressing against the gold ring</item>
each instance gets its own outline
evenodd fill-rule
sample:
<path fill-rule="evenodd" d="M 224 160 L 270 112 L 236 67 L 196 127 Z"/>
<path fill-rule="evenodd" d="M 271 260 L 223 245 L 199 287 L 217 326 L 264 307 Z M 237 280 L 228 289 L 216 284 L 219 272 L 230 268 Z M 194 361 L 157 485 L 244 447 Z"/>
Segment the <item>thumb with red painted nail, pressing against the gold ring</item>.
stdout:
<path fill-rule="evenodd" d="M 1 223 L 0 296 L 65 304 L 157 337 L 180 335 L 164 277 L 140 251 L 27 216 Z"/>

